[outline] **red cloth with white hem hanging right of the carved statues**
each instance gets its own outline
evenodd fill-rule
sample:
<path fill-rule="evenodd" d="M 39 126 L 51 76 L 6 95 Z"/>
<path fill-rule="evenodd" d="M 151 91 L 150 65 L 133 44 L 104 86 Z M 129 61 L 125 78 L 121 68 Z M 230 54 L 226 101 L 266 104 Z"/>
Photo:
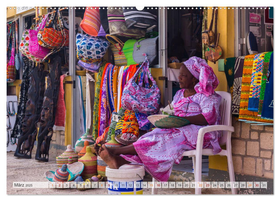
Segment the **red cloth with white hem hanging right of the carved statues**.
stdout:
<path fill-rule="evenodd" d="M 55 111 L 55 125 L 53 126 L 53 130 L 58 130 L 58 131 L 65 131 L 66 107 L 64 102 L 63 80 L 66 76 L 68 75 L 63 74 L 62 76 L 60 76 L 57 109 Z"/>

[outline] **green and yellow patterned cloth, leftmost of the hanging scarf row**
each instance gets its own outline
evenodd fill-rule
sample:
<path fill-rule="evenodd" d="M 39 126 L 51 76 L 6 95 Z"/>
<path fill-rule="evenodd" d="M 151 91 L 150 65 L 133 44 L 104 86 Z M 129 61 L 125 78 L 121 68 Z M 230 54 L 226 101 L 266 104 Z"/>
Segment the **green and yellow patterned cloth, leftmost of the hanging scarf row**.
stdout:
<path fill-rule="evenodd" d="M 105 67 L 107 67 L 109 63 L 106 63 L 105 61 L 101 64 L 97 80 L 96 80 L 96 87 L 95 87 L 95 96 L 94 96 L 94 105 L 93 105 L 93 129 L 92 129 L 92 135 L 93 139 L 96 140 L 98 137 L 98 108 L 99 108 L 99 92 L 100 92 L 100 85 L 101 85 L 101 78 L 102 73 Z"/>

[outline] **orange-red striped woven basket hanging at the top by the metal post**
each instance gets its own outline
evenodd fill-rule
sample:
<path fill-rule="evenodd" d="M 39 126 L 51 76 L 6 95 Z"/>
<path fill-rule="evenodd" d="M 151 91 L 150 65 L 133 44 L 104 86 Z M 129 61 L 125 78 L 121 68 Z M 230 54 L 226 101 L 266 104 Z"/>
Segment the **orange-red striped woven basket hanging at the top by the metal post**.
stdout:
<path fill-rule="evenodd" d="M 84 12 L 84 18 L 80 24 L 82 30 L 91 36 L 97 36 L 100 25 L 99 7 L 87 7 Z"/>

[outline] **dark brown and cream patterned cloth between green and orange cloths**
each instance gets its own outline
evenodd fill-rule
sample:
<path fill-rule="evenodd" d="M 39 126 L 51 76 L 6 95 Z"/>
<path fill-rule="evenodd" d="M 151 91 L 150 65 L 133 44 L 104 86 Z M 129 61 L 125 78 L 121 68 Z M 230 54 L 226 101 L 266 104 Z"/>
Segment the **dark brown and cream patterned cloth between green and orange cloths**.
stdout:
<path fill-rule="evenodd" d="M 239 115 L 242 73 L 245 56 L 236 57 L 232 91 L 232 114 Z"/>

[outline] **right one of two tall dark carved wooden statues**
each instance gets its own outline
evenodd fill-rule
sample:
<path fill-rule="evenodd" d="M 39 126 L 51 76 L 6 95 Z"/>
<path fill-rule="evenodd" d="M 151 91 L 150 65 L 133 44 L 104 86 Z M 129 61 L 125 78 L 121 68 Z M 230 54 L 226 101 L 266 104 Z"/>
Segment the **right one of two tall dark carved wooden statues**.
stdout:
<path fill-rule="evenodd" d="M 52 138 L 52 127 L 55 124 L 55 111 L 57 106 L 61 57 L 57 54 L 50 58 L 50 73 L 47 78 L 47 88 L 44 94 L 43 109 L 40 118 L 40 128 L 37 136 L 37 151 L 35 160 L 48 162 L 50 141 Z M 51 134 L 48 135 L 51 131 Z"/>

